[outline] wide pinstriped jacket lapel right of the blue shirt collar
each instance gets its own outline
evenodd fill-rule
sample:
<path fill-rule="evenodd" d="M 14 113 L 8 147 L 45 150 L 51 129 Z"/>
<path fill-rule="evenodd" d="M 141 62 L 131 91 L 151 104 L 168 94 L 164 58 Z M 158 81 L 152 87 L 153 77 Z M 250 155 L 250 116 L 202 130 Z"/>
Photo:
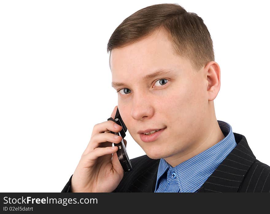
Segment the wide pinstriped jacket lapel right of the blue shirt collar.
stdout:
<path fill-rule="evenodd" d="M 244 135 L 233 133 L 237 146 L 204 182 L 198 192 L 238 192 L 245 174 L 256 160 Z"/>

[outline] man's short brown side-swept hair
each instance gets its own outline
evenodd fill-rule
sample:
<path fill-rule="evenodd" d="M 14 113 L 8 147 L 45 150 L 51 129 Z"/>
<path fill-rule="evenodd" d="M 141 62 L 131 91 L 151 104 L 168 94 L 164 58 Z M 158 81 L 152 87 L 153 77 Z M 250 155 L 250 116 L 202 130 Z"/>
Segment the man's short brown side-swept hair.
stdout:
<path fill-rule="evenodd" d="M 135 43 L 160 28 L 170 34 L 176 53 L 189 59 L 195 70 L 214 61 L 213 41 L 203 19 L 178 4 L 167 3 L 145 7 L 122 21 L 108 41 L 107 53 L 111 56 L 113 49 Z"/>

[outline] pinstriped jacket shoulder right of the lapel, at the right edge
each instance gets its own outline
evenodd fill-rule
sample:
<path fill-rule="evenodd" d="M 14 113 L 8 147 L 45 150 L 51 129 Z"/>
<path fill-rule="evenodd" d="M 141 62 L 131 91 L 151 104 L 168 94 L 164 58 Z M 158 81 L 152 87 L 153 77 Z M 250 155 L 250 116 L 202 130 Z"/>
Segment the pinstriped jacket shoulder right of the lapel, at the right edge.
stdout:
<path fill-rule="evenodd" d="M 256 159 L 246 173 L 239 192 L 269 193 L 270 166 Z"/>

